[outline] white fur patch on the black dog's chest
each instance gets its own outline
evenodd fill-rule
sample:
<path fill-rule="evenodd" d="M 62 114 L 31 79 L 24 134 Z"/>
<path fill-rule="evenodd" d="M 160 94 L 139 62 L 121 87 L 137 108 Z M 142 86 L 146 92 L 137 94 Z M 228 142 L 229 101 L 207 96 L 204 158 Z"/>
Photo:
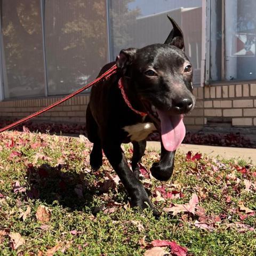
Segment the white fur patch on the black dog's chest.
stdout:
<path fill-rule="evenodd" d="M 148 135 L 156 130 L 153 123 L 138 123 L 134 125 L 124 126 L 123 129 L 129 133 L 132 141 L 145 140 Z"/>

